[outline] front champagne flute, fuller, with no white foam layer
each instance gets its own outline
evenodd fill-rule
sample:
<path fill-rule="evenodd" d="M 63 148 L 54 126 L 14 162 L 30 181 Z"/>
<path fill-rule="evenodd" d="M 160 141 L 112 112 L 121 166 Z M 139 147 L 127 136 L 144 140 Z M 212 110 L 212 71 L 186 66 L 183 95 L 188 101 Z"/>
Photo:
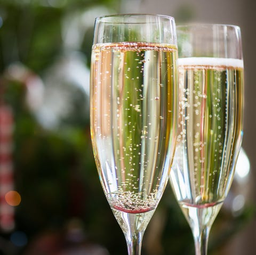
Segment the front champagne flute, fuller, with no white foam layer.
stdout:
<path fill-rule="evenodd" d="M 129 255 L 169 179 L 178 121 L 171 17 L 118 14 L 95 20 L 90 116 L 94 158 Z"/>

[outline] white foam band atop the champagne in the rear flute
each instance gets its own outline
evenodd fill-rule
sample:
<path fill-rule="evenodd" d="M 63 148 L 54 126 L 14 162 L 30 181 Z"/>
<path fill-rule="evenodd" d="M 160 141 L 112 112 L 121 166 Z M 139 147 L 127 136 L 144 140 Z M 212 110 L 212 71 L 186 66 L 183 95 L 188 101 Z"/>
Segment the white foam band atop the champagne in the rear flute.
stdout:
<path fill-rule="evenodd" d="M 225 57 L 181 57 L 178 60 L 179 65 L 199 65 L 203 67 L 233 67 L 244 68 L 244 62 L 241 59 L 226 59 Z"/>

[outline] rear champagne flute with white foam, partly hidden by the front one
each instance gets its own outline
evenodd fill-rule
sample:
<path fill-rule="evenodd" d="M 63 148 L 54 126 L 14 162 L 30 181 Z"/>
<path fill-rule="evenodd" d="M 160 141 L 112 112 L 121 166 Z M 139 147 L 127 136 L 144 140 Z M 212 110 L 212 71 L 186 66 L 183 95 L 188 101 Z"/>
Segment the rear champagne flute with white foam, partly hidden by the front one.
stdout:
<path fill-rule="evenodd" d="M 170 183 L 195 241 L 207 254 L 242 143 L 243 56 L 237 26 L 177 26 L 179 117 Z"/>

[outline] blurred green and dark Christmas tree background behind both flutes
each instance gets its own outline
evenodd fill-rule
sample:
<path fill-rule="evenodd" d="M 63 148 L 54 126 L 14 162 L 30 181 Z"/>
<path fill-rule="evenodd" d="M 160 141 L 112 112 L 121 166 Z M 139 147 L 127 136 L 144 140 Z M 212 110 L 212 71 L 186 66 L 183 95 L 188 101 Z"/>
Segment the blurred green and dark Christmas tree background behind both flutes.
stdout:
<path fill-rule="evenodd" d="M 209 254 L 255 254 L 255 10 L 251 0 L 0 0 L 0 254 L 126 254 L 94 164 L 89 77 L 95 17 L 131 12 L 241 27 L 243 150 Z M 142 254 L 194 254 L 170 185 Z"/>

